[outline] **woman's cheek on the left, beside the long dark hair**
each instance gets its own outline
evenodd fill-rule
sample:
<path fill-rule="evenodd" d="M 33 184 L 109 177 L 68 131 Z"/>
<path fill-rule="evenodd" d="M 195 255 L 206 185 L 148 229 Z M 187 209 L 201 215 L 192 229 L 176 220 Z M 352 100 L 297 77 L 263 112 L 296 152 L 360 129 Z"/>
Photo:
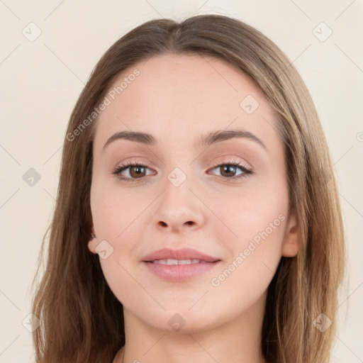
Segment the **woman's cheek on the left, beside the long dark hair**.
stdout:
<path fill-rule="evenodd" d="M 131 189 L 121 189 L 106 181 L 91 186 L 91 213 L 98 242 L 106 240 L 112 250 L 106 259 L 100 255 L 104 277 L 118 300 L 140 297 L 138 284 L 132 278 L 135 264 L 135 246 L 145 225 L 149 223 L 147 206 L 155 199 Z M 104 187 L 107 185 L 107 187 Z M 111 247 L 110 247 L 111 246 Z"/>

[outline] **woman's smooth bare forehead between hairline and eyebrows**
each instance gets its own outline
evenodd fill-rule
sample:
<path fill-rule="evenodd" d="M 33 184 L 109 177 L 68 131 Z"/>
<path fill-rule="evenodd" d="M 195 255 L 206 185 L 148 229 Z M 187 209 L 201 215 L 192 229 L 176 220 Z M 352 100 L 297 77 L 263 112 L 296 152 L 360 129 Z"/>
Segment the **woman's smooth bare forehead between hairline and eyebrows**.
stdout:
<path fill-rule="evenodd" d="M 109 104 L 96 120 L 95 148 L 121 130 L 150 133 L 165 142 L 194 143 L 206 131 L 228 128 L 263 134 L 266 143 L 277 138 L 274 113 L 262 92 L 216 57 L 151 57 L 118 74 L 106 97 Z"/>

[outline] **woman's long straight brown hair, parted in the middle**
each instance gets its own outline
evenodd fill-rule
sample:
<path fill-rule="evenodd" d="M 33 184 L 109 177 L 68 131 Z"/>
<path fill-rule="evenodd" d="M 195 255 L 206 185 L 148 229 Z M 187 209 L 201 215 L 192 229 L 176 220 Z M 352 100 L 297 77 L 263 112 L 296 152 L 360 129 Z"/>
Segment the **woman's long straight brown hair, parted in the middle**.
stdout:
<path fill-rule="evenodd" d="M 120 72 L 162 53 L 212 55 L 235 65 L 277 111 L 301 249 L 296 257 L 281 257 L 269 285 L 262 352 L 269 363 L 327 363 L 337 288 L 344 277 L 345 238 L 325 136 L 303 80 L 277 45 L 238 19 L 211 14 L 180 23 L 157 19 L 134 28 L 101 57 L 80 94 L 67 128 L 55 212 L 35 275 L 50 230 L 48 261 L 33 298 L 33 313 L 41 320 L 33 333 L 36 362 L 111 362 L 125 344 L 123 306 L 108 287 L 99 256 L 87 249 L 96 119 L 86 127 L 84 120 Z M 77 137 L 71 138 L 77 128 Z"/>

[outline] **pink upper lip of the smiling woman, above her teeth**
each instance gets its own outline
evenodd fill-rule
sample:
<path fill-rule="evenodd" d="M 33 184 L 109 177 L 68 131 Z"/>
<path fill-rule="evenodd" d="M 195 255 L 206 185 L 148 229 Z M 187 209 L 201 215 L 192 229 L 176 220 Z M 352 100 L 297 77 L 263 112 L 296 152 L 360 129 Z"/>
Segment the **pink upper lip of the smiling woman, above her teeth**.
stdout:
<path fill-rule="evenodd" d="M 181 250 L 172 250 L 170 248 L 162 248 L 143 257 L 143 261 L 150 262 L 156 259 L 200 259 L 206 262 L 216 262 L 220 259 L 211 257 L 203 252 L 193 250 L 192 248 L 182 248 Z"/>

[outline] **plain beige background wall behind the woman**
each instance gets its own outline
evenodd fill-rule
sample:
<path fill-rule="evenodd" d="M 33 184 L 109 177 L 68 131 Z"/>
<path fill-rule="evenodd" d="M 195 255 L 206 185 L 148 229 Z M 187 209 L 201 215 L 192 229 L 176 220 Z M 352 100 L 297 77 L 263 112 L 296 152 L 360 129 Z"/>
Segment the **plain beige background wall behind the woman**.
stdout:
<path fill-rule="evenodd" d="M 33 362 L 24 327 L 30 283 L 55 205 L 67 121 L 91 69 L 140 23 L 196 13 L 262 30 L 311 91 L 335 163 L 349 253 L 333 362 L 363 362 L 362 0 L 0 0 L 0 362 Z M 40 174 L 33 186 L 23 179 L 30 168 Z"/>

